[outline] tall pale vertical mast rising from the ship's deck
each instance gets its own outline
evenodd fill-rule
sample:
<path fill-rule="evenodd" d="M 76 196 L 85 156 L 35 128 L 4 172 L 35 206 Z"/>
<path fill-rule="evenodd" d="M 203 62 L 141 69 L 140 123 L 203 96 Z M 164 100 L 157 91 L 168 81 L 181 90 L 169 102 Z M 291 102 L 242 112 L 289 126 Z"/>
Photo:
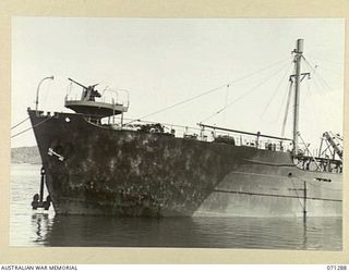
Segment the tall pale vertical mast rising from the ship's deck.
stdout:
<path fill-rule="evenodd" d="M 297 40 L 297 48 L 293 50 L 294 55 L 294 109 L 293 109 L 293 157 L 298 154 L 298 133 L 299 133 L 299 100 L 301 83 L 301 60 L 303 53 L 303 39 Z"/>

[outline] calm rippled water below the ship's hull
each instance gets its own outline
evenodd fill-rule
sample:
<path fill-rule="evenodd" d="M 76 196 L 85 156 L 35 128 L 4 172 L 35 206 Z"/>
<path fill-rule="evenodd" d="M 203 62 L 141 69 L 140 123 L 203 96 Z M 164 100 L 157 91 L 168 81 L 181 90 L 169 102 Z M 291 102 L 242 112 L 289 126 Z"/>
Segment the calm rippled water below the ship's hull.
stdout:
<path fill-rule="evenodd" d="M 40 166 L 12 164 L 11 246 L 341 250 L 341 218 L 117 219 L 33 211 Z"/>

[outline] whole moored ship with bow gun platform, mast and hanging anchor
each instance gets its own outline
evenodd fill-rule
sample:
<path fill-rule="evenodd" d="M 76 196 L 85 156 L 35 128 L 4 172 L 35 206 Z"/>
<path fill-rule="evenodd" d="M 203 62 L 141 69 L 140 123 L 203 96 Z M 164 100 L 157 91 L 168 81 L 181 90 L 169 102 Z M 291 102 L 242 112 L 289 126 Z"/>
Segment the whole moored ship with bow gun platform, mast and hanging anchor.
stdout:
<path fill-rule="evenodd" d="M 103 100 L 97 85 L 69 78 L 81 88 L 80 97 L 65 97 L 74 113 L 27 110 L 43 161 L 35 208 L 51 202 L 56 214 L 107 217 L 341 217 L 342 138 L 328 131 L 316 154 L 300 148 L 303 39 L 292 54 L 292 138 L 204 123 L 178 135 L 161 123 L 125 122 L 129 101 Z"/>

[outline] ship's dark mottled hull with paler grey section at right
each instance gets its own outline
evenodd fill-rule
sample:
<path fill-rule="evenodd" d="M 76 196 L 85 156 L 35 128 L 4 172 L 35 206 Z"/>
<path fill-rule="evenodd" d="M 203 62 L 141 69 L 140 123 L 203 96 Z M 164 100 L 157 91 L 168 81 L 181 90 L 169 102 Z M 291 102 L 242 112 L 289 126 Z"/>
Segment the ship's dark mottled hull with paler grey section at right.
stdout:
<path fill-rule="evenodd" d="M 28 113 L 58 214 L 341 215 L 341 175 L 300 170 L 288 152 Z"/>

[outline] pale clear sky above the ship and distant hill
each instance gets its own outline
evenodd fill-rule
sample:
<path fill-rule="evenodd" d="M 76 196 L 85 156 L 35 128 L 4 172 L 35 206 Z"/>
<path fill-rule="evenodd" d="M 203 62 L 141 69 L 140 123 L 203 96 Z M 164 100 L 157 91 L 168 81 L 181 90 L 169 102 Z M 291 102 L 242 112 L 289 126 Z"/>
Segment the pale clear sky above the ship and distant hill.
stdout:
<path fill-rule="evenodd" d="M 280 136 L 298 38 L 310 64 L 303 61 L 302 72 L 311 72 L 301 84 L 300 132 L 317 148 L 324 132 L 342 134 L 342 18 L 13 17 L 12 126 L 35 108 L 41 78 L 53 75 L 40 87 L 44 111 L 71 112 L 63 107 L 71 77 L 127 89 L 127 119 Z M 286 137 L 291 119 L 292 104 Z M 32 131 L 11 139 L 12 147 L 34 145 Z"/>

